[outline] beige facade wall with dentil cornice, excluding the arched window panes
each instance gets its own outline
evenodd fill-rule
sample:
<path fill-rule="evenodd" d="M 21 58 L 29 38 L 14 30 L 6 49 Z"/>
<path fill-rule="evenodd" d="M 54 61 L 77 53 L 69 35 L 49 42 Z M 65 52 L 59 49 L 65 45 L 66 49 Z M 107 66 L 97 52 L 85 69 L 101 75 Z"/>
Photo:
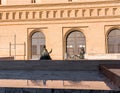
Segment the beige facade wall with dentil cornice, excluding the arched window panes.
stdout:
<path fill-rule="evenodd" d="M 0 57 L 31 59 L 30 34 L 37 29 L 44 33 L 48 51 L 53 49 L 54 60 L 65 58 L 66 35 L 73 30 L 86 37 L 87 59 L 119 59 L 119 54 L 107 55 L 106 42 L 108 31 L 120 27 L 119 5 L 111 1 L 0 6 Z"/>

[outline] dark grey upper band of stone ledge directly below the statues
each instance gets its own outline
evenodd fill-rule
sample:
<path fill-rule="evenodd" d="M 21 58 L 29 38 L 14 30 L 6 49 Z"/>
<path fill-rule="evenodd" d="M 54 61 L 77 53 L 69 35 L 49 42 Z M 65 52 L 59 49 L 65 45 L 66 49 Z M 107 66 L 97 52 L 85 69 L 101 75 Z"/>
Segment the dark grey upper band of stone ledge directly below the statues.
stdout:
<path fill-rule="evenodd" d="M 100 64 L 120 64 L 119 60 L 13 60 L 0 61 L 0 70 L 95 71 Z"/>

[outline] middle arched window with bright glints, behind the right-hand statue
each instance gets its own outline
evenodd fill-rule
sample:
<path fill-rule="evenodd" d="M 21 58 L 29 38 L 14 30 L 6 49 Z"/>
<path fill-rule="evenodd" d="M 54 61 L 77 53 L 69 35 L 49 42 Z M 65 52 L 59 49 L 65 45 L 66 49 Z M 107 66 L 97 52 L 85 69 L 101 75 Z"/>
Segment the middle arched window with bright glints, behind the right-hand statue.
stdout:
<path fill-rule="evenodd" d="M 80 50 L 85 50 L 85 36 L 80 31 L 72 31 L 66 37 L 67 59 L 79 59 Z"/>

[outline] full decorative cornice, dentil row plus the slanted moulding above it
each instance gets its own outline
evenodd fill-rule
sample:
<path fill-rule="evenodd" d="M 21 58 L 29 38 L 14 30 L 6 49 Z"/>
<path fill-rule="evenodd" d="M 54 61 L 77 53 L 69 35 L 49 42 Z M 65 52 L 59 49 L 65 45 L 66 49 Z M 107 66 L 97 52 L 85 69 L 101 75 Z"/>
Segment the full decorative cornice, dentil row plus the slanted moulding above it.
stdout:
<path fill-rule="evenodd" d="M 3 22 L 115 19 L 120 18 L 119 11 L 120 1 L 9 5 L 0 6 L 0 24 Z"/>

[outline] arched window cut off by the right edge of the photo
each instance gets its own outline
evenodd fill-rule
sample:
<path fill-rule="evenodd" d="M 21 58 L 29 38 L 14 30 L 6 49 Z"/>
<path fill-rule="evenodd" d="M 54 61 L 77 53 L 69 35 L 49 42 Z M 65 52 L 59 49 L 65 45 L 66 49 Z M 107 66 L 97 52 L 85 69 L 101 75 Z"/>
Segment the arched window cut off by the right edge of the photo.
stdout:
<path fill-rule="evenodd" d="M 108 33 L 108 53 L 120 53 L 120 29 Z"/>

